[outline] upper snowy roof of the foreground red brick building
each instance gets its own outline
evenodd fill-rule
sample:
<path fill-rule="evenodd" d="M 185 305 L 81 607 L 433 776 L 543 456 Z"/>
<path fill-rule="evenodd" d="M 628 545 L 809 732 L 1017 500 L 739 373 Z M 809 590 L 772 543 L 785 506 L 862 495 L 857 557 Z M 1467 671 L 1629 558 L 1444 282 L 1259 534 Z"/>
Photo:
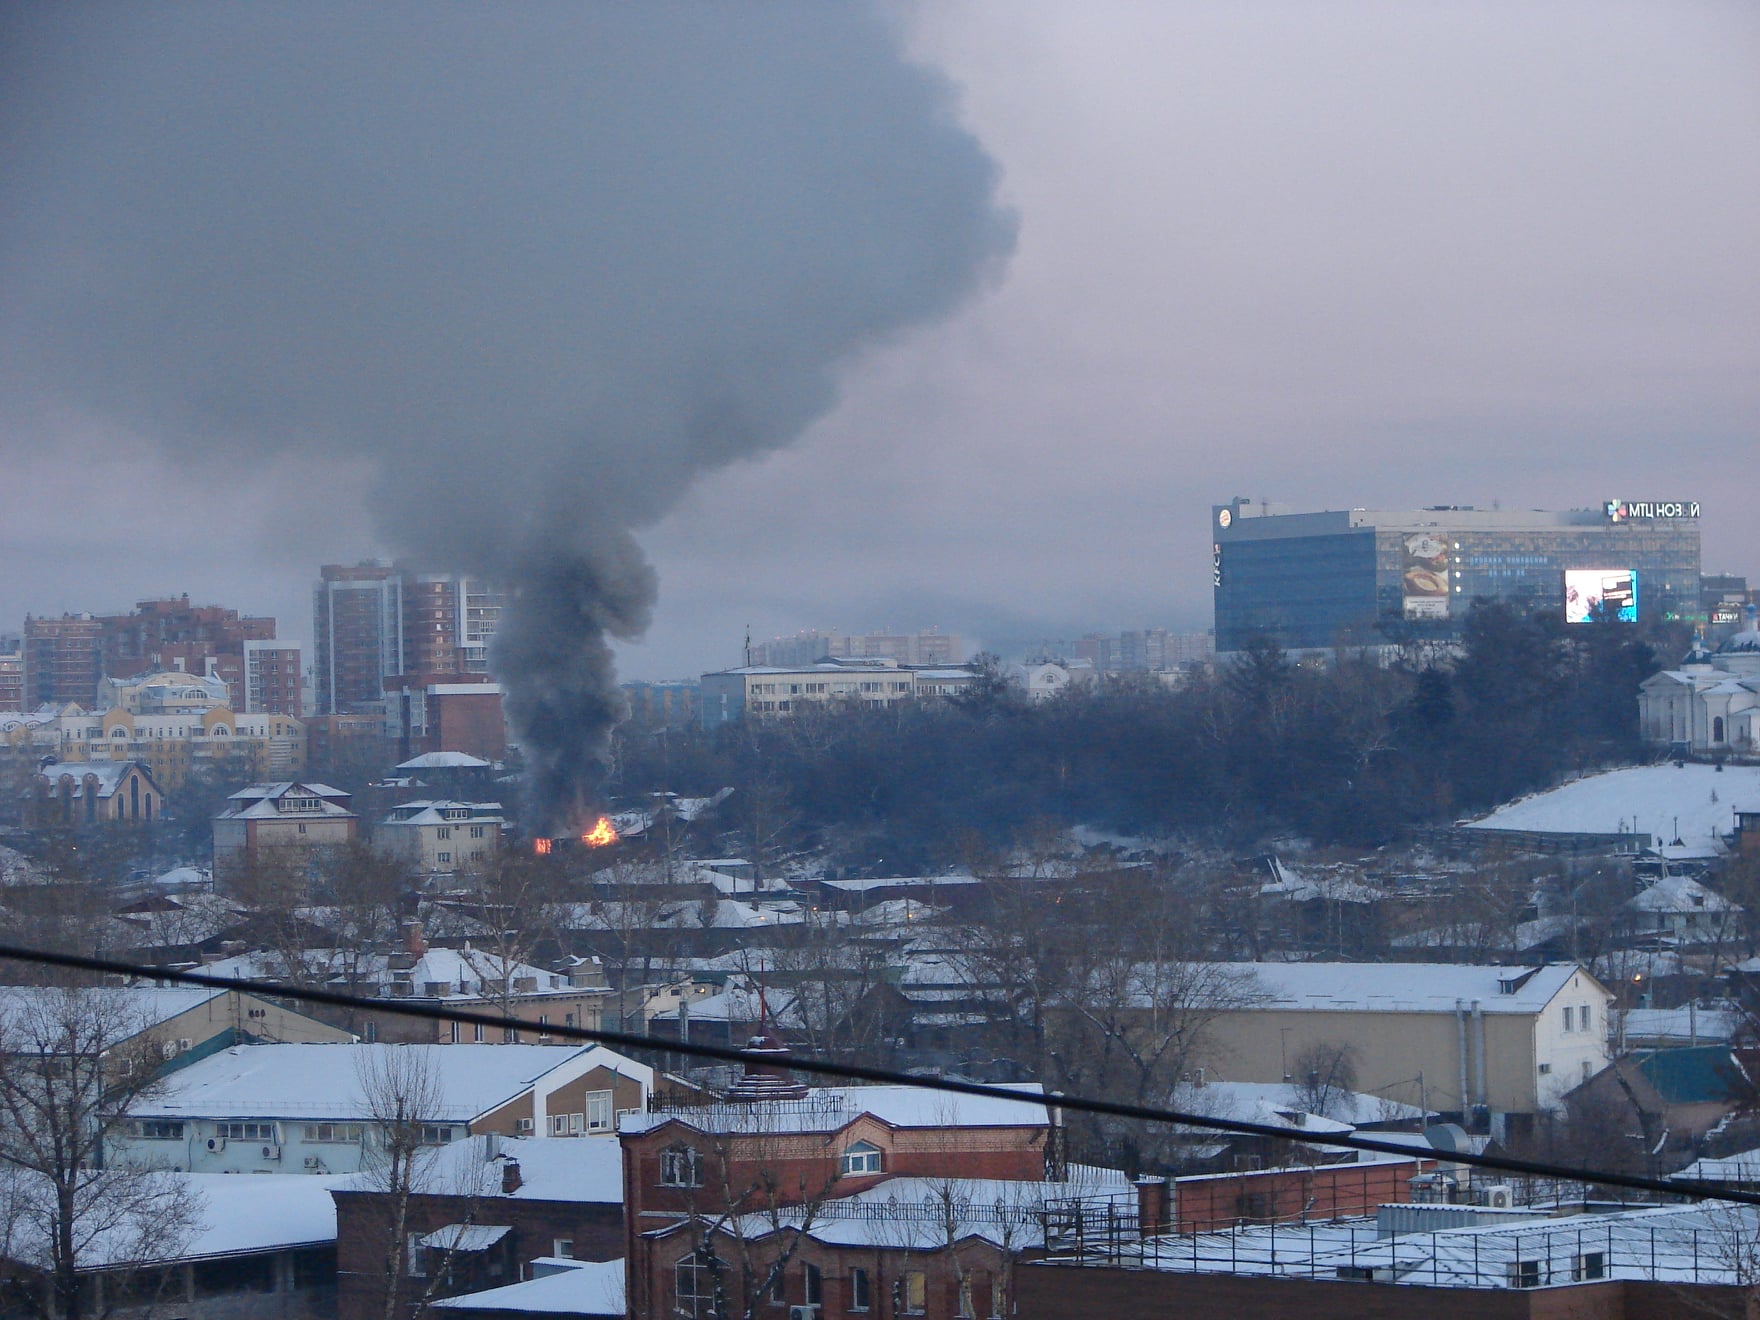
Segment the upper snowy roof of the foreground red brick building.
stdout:
<path fill-rule="evenodd" d="M 679 1123 L 699 1132 L 838 1132 L 862 1114 L 892 1128 L 1044 1128 L 1044 1088 L 1019 1082 L 1019 1100 L 950 1095 L 920 1086 L 827 1086 L 813 1088 L 801 1100 L 704 1105 L 671 1114 L 620 1114 L 620 1133 L 653 1132 Z"/>

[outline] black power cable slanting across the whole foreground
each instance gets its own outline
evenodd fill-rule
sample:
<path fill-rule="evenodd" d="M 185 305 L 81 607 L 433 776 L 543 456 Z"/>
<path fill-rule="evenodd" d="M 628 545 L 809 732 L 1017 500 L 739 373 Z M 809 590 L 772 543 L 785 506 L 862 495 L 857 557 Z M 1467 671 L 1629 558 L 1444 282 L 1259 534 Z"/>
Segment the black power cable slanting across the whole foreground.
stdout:
<path fill-rule="evenodd" d="M 535 1030 L 539 1024 L 502 1014 L 479 1014 L 465 1008 L 442 1008 L 426 1003 L 398 1003 L 391 1000 L 368 1000 L 361 994 L 343 994 L 341 991 L 315 989 L 304 986 L 285 986 L 273 980 L 241 980 L 234 977 L 209 977 L 202 972 L 176 972 L 171 968 L 153 968 L 137 963 L 118 963 L 107 957 L 88 957 L 81 954 L 53 954 L 42 949 L 21 949 L 0 945 L 0 961 L 35 963 L 39 966 L 58 966 L 70 972 L 93 972 L 107 977 L 132 977 L 137 980 L 171 980 L 181 986 L 204 986 L 208 989 L 239 989 L 253 994 L 266 994 L 278 1000 L 296 1000 L 301 1003 L 327 1003 L 334 1008 L 364 1008 L 377 1014 L 398 1017 L 419 1017 L 429 1023 L 465 1023 L 472 1026 L 521 1028 Z M 665 1040 L 662 1037 L 635 1035 L 630 1031 L 604 1031 L 586 1026 L 544 1024 L 544 1033 L 565 1040 L 581 1040 L 590 1045 L 612 1045 L 616 1049 L 637 1052 L 690 1054 L 692 1058 L 715 1060 L 718 1063 L 748 1063 L 767 1067 L 787 1067 L 794 1072 L 813 1074 L 815 1077 L 838 1077 L 859 1082 L 880 1082 L 889 1086 L 915 1086 L 924 1091 L 945 1091 L 949 1095 L 975 1095 L 984 1100 L 1023 1102 L 1023 1093 L 1005 1086 L 986 1082 L 963 1082 L 950 1077 L 915 1077 L 892 1068 L 875 1068 L 866 1063 L 831 1063 L 829 1060 L 801 1058 L 796 1054 L 778 1060 L 774 1054 L 760 1054 L 729 1045 L 704 1045 L 685 1040 Z M 1274 1140 L 1316 1140 L 1304 1133 L 1292 1133 L 1269 1123 L 1250 1123 L 1246 1119 L 1214 1118 L 1211 1114 L 1186 1114 L 1177 1109 L 1156 1109 L 1153 1105 L 1132 1105 L 1118 1100 L 1095 1100 L 1079 1095 L 1061 1095 L 1049 1091 L 1044 1096 L 1049 1109 L 1067 1109 L 1077 1114 L 1096 1114 L 1100 1118 L 1126 1118 L 1140 1123 L 1177 1123 L 1192 1128 L 1209 1128 L 1213 1132 L 1232 1132 L 1241 1137 L 1271 1137 Z M 1760 1192 L 1739 1192 L 1716 1183 L 1697 1179 L 1642 1177 L 1639 1174 L 1621 1174 L 1614 1170 L 1570 1169 L 1568 1165 L 1547 1163 L 1545 1160 L 1517 1160 L 1508 1155 L 1475 1155 L 1473 1151 L 1433 1151 L 1424 1153 L 1412 1146 L 1401 1146 L 1375 1137 L 1331 1135 L 1318 1139 L 1324 1146 L 1341 1146 L 1375 1155 L 1397 1155 L 1404 1158 L 1426 1158 L 1438 1163 L 1464 1163 L 1475 1169 L 1496 1169 L 1507 1174 L 1528 1174 L 1531 1177 L 1554 1177 L 1566 1183 L 1593 1183 L 1596 1186 L 1617 1186 L 1630 1192 L 1649 1192 L 1658 1195 L 1686 1197 L 1690 1200 L 1730 1200 L 1744 1206 L 1760 1206 Z"/>

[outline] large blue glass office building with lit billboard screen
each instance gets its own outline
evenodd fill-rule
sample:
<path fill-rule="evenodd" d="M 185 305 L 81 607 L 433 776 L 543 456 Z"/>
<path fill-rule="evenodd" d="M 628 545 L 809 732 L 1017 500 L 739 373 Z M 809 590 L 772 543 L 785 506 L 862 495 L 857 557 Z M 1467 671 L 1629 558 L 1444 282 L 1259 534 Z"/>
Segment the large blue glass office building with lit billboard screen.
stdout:
<path fill-rule="evenodd" d="M 1698 620 L 1698 505 L 1609 500 L 1568 512 L 1436 507 L 1297 514 L 1211 509 L 1216 649 L 1450 637 L 1475 598 L 1566 621 Z"/>

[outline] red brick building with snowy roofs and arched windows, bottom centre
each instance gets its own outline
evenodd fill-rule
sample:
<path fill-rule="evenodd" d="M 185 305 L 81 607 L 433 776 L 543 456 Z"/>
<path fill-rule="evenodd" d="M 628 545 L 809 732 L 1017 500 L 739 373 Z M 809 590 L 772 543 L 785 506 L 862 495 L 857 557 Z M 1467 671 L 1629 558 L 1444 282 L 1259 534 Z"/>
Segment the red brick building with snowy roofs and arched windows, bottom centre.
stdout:
<path fill-rule="evenodd" d="M 1070 1170 L 1040 1088 L 1019 1091 L 808 1089 L 757 1070 L 723 1102 L 625 1116 L 630 1316 L 1008 1313 L 1047 1202 L 1128 1192 Z"/>

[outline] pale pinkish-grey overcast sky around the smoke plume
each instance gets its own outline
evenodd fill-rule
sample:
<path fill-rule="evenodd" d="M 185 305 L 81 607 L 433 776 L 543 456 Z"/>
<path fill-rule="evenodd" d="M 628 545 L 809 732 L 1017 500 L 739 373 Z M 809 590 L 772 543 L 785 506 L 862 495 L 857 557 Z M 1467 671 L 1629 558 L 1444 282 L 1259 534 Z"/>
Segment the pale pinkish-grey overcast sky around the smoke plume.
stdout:
<path fill-rule="evenodd" d="M 1705 568 L 1760 576 L 1760 7 L 896 12 L 1000 164 L 1014 253 L 639 533 L 628 676 L 736 664 L 746 625 L 1200 630 L 1232 495 L 1700 500 Z M 317 565 L 380 551 L 348 458 L 0 428 L 0 632 L 188 591 L 308 637 Z"/>

